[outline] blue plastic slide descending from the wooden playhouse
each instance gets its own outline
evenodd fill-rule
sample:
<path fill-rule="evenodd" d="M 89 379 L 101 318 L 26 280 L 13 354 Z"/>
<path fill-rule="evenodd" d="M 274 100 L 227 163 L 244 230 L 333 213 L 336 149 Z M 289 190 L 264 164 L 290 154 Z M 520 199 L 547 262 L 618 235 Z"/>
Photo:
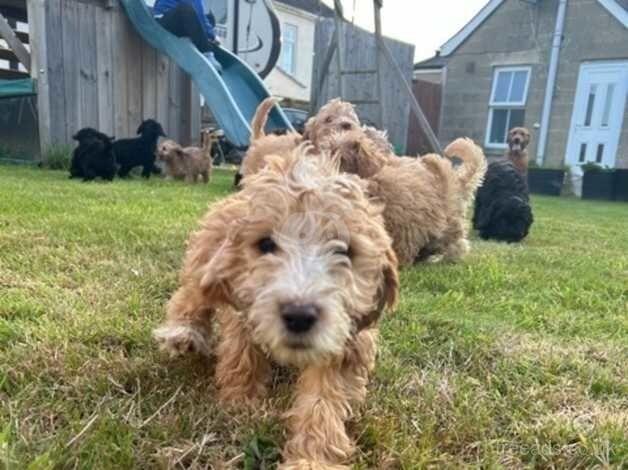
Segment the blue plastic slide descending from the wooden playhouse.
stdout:
<path fill-rule="evenodd" d="M 212 52 L 222 66 L 219 72 L 187 38 L 178 38 L 157 23 L 143 0 L 120 0 L 142 38 L 185 70 L 234 145 L 249 145 L 250 122 L 259 103 L 270 94 L 261 78 L 245 62 L 222 47 Z M 268 118 L 269 129 L 292 129 L 279 106 Z"/>

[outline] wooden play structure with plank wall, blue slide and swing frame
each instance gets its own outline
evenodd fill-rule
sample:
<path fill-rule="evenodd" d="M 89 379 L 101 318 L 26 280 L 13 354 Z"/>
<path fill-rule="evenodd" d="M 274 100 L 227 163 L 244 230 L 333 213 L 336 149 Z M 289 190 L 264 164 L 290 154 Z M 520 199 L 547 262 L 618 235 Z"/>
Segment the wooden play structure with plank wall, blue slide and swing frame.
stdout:
<path fill-rule="evenodd" d="M 339 2 L 335 3 L 336 26 L 342 32 L 346 21 Z M 381 0 L 374 5 L 377 70 L 388 61 L 398 72 L 401 89 L 409 89 L 381 36 Z M 28 32 L 18 31 L 15 20 L 27 22 Z M 38 134 L 32 140 L 39 141 L 42 156 L 51 145 L 70 144 L 73 133 L 82 127 L 125 137 L 135 135 L 139 123 L 148 118 L 160 121 L 169 137 L 190 144 L 200 134 L 199 94 L 227 138 L 246 146 L 255 109 L 269 96 L 259 75 L 237 55 L 215 47 L 222 68 L 217 70 L 188 39 L 163 29 L 144 0 L 0 0 L 0 36 L 9 47 L 4 54 L 25 69 L 15 74 L 32 80 L 37 104 L 33 134 Z M 342 37 L 336 33 L 328 44 L 315 83 L 325 82 L 334 52 L 342 65 Z M 353 72 L 343 70 L 341 75 L 345 73 Z M 378 81 L 380 90 L 387 87 L 379 74 Z M 341 81 L 341 91 L 344 83 Z M 315 97 L 319 91 L 320 85 L 314 90 Z M 412 111 L 421 116 L 414 97 L 410 94 L 407 98 Z M 380 105 L 391 107 L 394 103 Z M 401 121 L 378 124 L 407 125 Z M 268 127 L 291 128 L 278 106 Z M 432 141 L 437 147 L 436 139 Z"/>

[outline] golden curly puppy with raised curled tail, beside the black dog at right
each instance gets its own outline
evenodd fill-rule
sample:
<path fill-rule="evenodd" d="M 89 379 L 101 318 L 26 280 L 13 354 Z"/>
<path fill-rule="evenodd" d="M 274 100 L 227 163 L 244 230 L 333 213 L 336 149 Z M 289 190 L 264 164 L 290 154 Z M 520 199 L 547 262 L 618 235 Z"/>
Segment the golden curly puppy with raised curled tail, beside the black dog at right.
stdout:
<path fill-rule="evenodd" d="M 369 193 L 385 205 L 386 229 L 400 265 L 432 256 L 457 261 L 469 249 L 465 215 L 486 172 L 482 150 L 470 139 L 446 149 L 462 165 L 430 154 L 419 159 L 396 158 L 368 179 Z"/>

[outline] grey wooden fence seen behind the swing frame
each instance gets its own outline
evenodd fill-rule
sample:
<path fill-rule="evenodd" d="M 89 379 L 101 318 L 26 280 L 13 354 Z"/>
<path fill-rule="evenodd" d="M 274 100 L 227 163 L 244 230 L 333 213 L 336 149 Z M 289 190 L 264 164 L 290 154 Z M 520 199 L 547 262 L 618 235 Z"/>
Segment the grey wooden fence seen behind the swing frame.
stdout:
<path fill-rule="evenodd" d="M 312 101 L 316 101 L 318 107 L 325 104 L 332 98 L 341 95 L 338 80 L 337 61 L 331 61 L 329 72 L 325 77 L 321 94 L 316 94 L 316 84 L 320 76 L 322 62 L 329 45 L 329 41 L 334 32 L 335 25 L 333 19 L 321 19 L 317 23 L 314 45 L 314 65 L 313 65 L 313 86 Z M 343 60 L 345 70 L 372 70 L 376 68 L 376 45 L 375 37 L 372 33 L 357 26 L 345 23 L 343 28 L 344 44 Z M 393 39 L 384 39 L 390 48 L 395 60 L 400 65 L 404 76 L 412 79 L 412 65 L 414 59 L 414 46 Z M 379 107 L 373 103 L 357 104 L 356 108 L 360 119 L 372 123 L 380 128 L 388 130 L 391 142 L 400 151 L 405 151 L 408 134 L 408 113 L 410 106 L 408 96 L 403 88 L 403 84 L 397 78 L 395 72 L 389 67 L 386 61 L 381 60 L 384 66 L 381 71 L 384 93 L 384 124 L 380 122 Z M 347 101 L 373 101 L 379 99 L 377 87 L 377 77 L 374 74 L 351 74 L 346 75 L 344 80 L 346 96 L 342 98 Z"/>

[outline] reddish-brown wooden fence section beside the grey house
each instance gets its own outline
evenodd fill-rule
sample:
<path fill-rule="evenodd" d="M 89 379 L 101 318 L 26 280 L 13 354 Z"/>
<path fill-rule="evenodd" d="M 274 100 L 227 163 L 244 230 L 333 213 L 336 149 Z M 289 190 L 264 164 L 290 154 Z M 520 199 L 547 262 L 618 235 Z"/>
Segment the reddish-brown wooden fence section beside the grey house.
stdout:
<path fill-rule="evenodd" d="M 440 83 L 428 82 L 415 79 L 412 82 L 412 91 L 421 105 L 430 126 L 438 135 L 438 124 L 440 121 L 442 85 Z M 414 114 L 410 114 L 410 124 L 408 126 L 408 155 L 424 155 L 432 151 L 430 141 L 419 126 Z"/>

